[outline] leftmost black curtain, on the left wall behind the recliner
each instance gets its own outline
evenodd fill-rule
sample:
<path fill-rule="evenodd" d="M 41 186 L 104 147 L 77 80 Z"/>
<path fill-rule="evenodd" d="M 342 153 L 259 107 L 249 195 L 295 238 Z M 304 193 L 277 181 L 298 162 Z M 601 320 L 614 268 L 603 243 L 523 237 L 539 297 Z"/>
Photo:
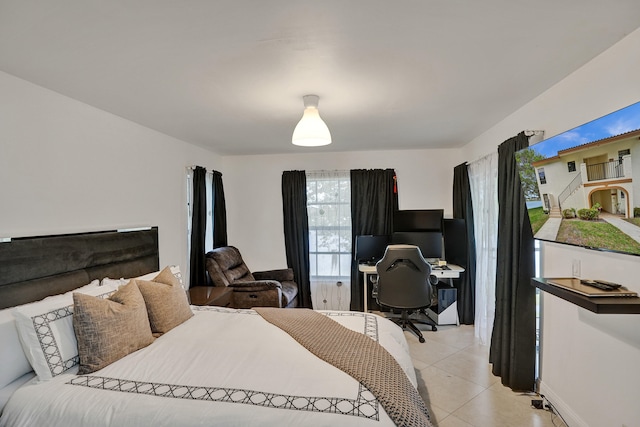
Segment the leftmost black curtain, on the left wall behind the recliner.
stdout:
<path fill-rule="evenodd" d="M 189 260 L 189 287 L 206 286 L 204 238 L 207 227 L 207 170 L 196 166 L 193 170 L 193 198 L 191 216 L 191 256 Z"/>

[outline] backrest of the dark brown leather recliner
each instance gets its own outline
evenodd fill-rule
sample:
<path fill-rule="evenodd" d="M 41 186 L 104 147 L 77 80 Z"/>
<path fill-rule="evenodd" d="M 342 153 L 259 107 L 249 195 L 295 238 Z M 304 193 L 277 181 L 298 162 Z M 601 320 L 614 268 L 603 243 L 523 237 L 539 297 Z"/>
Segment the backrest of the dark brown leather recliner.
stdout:
<path fill-rule="evenodd" d="M 207 272 L 214 286 L 253 281 L 253 275 L 234 246 L 216 248 L 206 254 Z"/>

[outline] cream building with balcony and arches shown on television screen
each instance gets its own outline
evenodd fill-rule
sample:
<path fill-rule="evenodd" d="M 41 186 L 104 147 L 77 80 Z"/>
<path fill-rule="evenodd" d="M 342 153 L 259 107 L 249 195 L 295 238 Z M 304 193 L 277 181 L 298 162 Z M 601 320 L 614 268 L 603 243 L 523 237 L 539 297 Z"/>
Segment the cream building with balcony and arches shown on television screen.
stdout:
<path fill-rule="evenodd" d="M 633 217 L 640 204 L 640 129 L 558 151 L 533 163 L 545 211 L 591 208 Z"/>

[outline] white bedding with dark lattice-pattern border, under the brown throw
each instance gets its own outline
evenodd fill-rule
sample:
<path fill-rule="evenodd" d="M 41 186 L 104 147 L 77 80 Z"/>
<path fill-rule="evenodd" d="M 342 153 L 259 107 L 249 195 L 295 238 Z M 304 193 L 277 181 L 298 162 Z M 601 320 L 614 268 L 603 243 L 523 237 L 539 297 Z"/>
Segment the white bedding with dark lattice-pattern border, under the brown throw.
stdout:
<path fill-rule="evenodd" d="M 359 383 L 252 310 L 193 307 L 191 319 L 106 368 L 22 386 L 0 426 L 393 426 Z M 402 330 L 325 311 L 382 344 L 416 385 Z"/>

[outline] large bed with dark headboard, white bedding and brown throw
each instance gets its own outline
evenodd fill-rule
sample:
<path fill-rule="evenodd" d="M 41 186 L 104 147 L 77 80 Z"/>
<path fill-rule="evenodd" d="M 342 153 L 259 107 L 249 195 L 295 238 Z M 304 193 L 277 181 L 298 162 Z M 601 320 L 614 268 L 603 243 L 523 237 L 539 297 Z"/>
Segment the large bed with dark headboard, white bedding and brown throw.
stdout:
<path fill-rule="evenodd" d="M 0 426 L 430 425 L 395 324 L 361 312 L 185 303 L 186 312 L 180 303 L 169 325 L 152 307 L 186 294 L 178 267 L 160 270 L 157 241 L 151 228 L 0 244 Z M 125 294 L 144 297 L 153 338 L 87 373 L 95 358 L 85 342 L 102 346 L 104 331 L 83 313 Z M 123 338 L 135 329 L 123 319 L 109 318 L 109 336 L 138 340 Z"/>

